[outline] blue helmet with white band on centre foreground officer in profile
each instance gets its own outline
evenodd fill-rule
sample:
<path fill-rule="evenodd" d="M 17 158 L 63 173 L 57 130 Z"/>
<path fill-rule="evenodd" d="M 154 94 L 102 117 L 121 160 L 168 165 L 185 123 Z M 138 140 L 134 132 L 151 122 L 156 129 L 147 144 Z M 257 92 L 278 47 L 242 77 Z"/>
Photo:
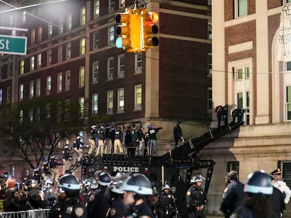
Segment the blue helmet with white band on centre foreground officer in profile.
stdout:
<path fill-rule="evenodd" d="M 123 191 L 133 191 L 142 196 L 153 195 L 153 186 L 150 180 L 141 173 L 135 173 L 131 177 L 128 177 L 123 185 Z"/>

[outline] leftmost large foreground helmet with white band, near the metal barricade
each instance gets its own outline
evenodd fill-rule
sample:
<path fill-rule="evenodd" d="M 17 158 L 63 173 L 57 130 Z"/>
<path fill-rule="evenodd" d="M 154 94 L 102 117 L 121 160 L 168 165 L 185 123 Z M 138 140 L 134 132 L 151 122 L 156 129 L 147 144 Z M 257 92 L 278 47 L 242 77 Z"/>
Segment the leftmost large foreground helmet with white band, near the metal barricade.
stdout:
<path fill-rule="evenodd" d="M 60 177 L 58 187 L 65 191 L 68 196 L 78 196 L 81 186 L 79 180 L 72 174 L 65 174 Z"/>

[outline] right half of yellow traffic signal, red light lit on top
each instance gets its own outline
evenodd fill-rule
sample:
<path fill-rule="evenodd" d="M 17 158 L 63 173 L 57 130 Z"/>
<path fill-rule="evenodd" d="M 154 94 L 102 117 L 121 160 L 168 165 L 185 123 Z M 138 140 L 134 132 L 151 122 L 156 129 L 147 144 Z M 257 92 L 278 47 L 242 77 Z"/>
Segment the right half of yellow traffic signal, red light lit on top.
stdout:
<path fill-rule="evenodd" d="M 153 34 L 159 32 L 159 28 L 155 23 L 159 20 L 159 16 L 155 12 L 148 12 L 143 9 L 143 50 L 153 48 L 159 45 L 159 39 Z"/>

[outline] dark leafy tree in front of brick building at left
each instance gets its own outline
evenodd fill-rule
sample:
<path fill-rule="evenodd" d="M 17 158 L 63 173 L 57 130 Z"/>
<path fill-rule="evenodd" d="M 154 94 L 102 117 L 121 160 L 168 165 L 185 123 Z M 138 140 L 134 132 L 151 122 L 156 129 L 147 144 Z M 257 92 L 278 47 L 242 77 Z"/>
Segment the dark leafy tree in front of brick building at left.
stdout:
<path fill-rule="evenodd" d="M 38 98 L 6 104 L 0 111 L 0 140 L 6 156 L 18 157 L 32 169 L 83 126 L 79 104 L 61 100 Z"/>

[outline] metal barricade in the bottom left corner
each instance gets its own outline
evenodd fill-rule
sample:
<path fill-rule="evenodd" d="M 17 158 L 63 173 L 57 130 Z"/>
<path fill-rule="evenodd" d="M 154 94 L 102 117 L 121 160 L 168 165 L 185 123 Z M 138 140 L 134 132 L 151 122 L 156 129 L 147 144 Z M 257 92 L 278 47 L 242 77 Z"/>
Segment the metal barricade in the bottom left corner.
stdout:
<path fill-rule="evenodd" d="M 0 218 L 48 218 L 50 209 L 0 212 Z"/>

